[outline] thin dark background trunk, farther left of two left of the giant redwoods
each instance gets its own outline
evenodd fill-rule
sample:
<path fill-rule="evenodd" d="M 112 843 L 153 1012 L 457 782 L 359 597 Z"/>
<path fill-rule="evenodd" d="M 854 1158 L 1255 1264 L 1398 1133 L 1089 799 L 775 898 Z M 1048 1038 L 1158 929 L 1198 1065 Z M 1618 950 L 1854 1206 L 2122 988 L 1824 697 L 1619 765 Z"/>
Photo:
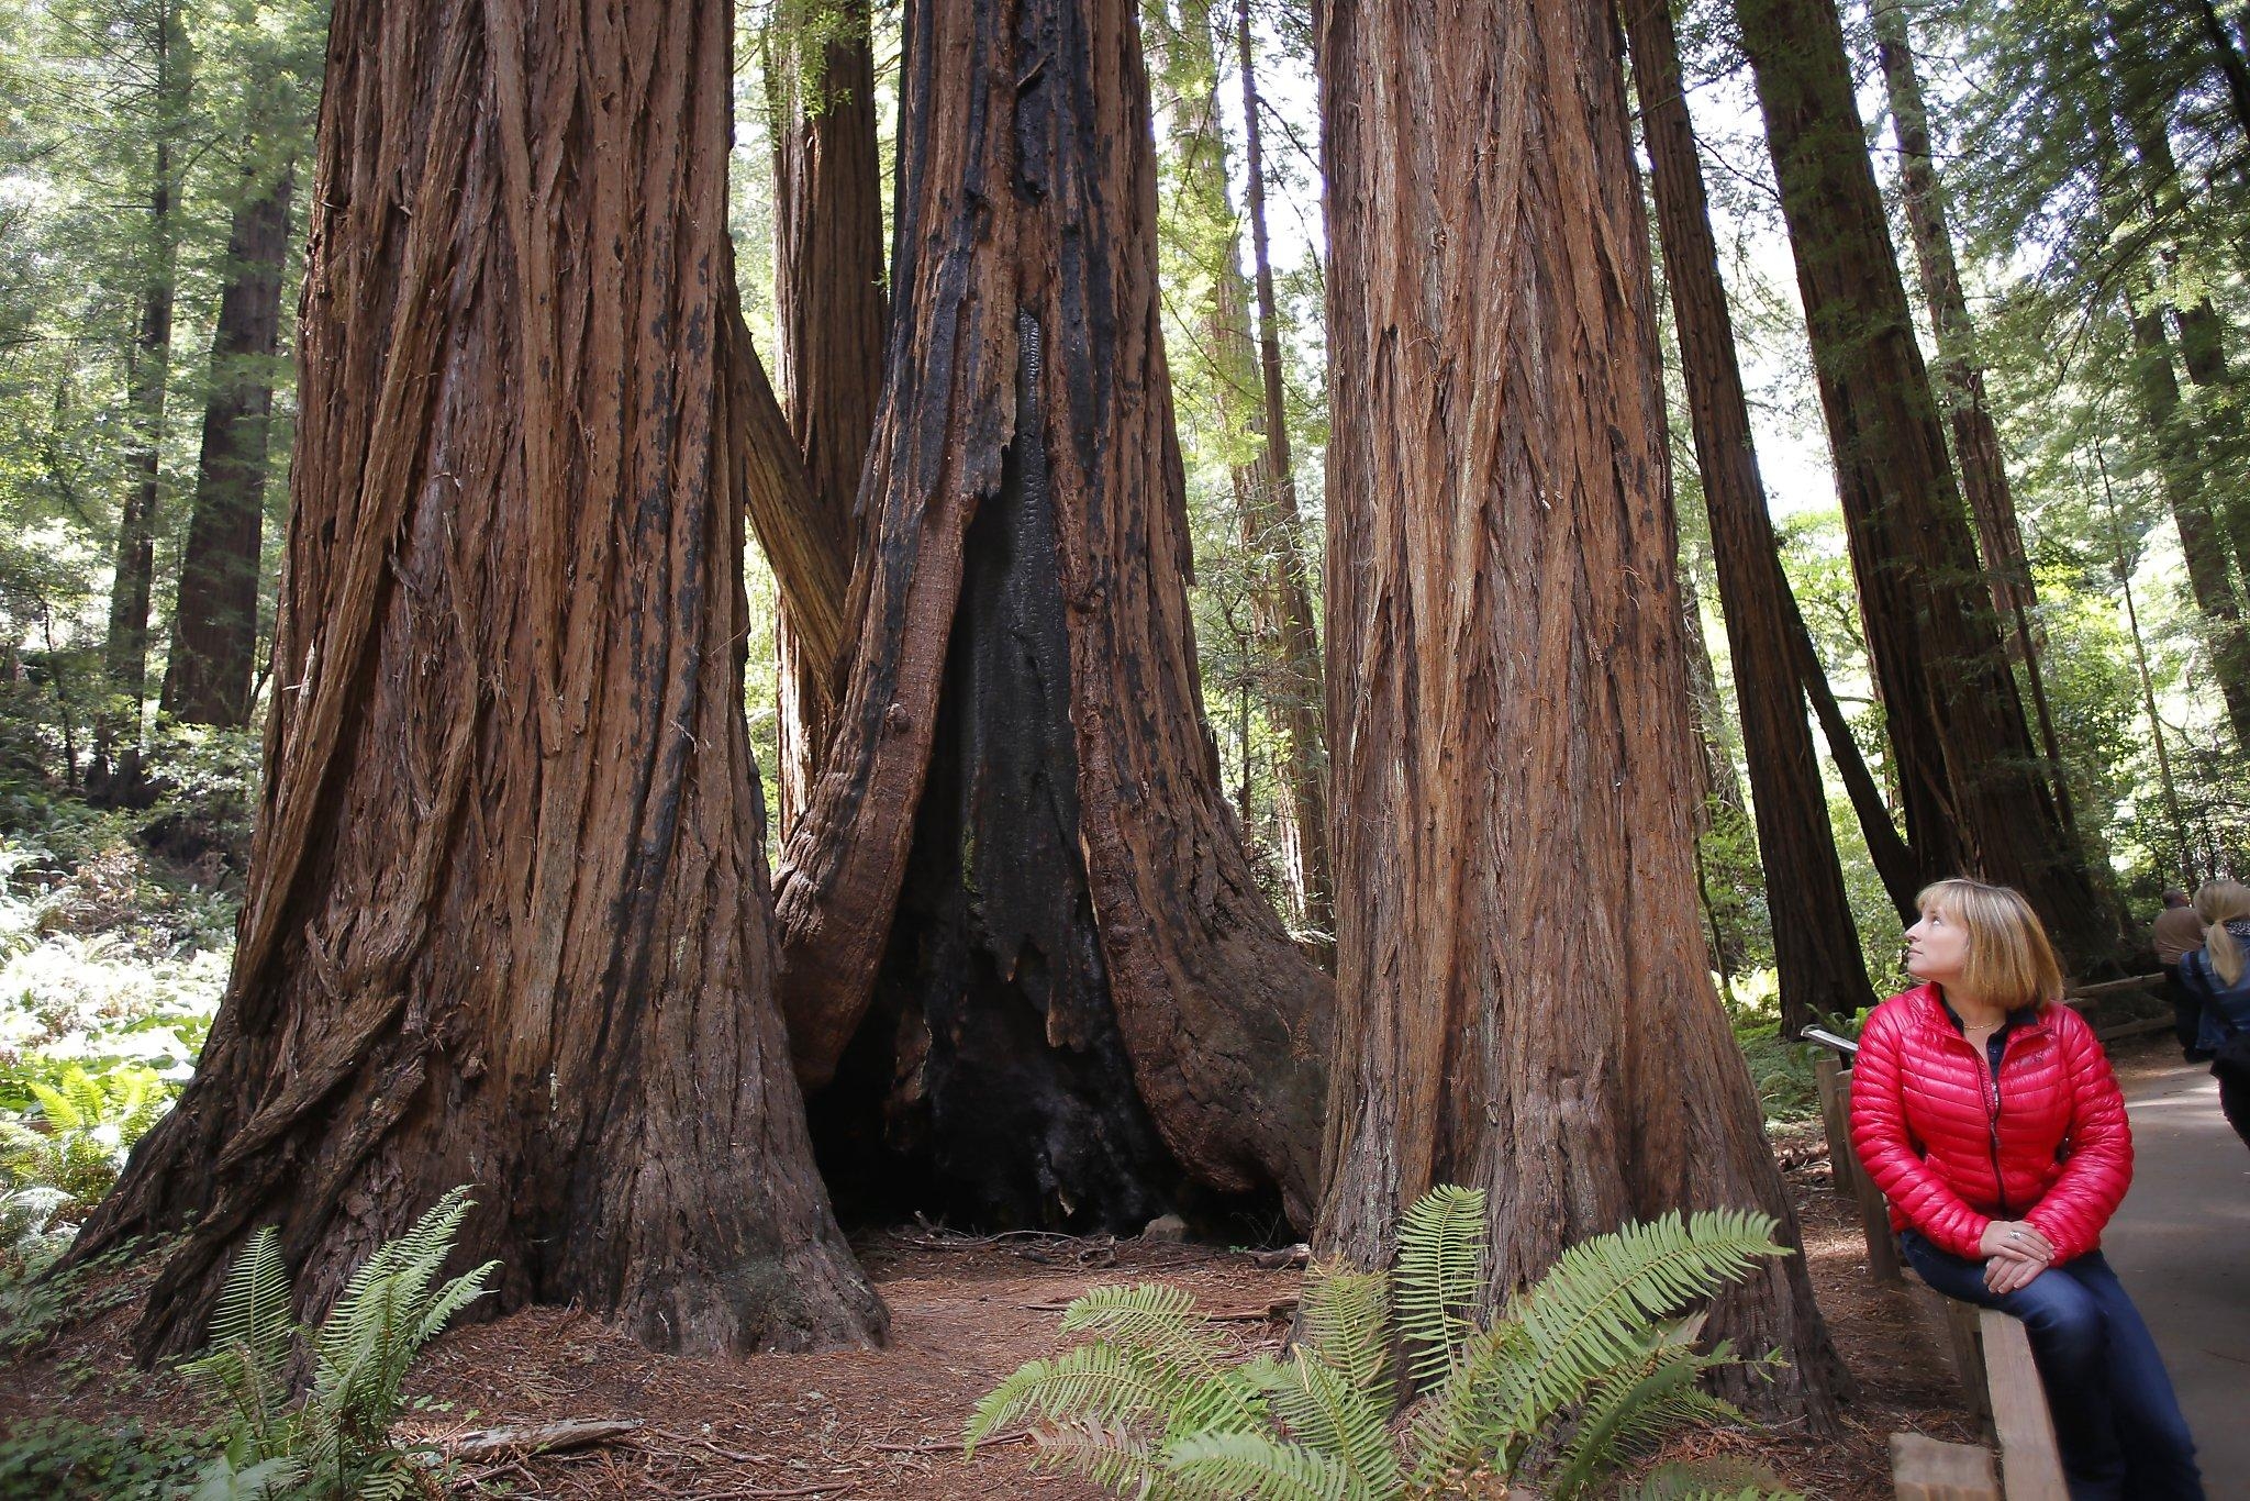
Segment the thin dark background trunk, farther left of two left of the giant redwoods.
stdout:
<path fill-rule="evenodd" d="M 187 110 L 189 59 L 180 9 L 160 0 L 151 20 L 155 140 L 151 144 L 148 241 L 140 295 L 140 329 L 126 358 L 126 405 L 133 439 L 124 511 L 117 518 L 117 567 L 110 583 L 110 632 L 101 650 L 108 707 L 94 734 L 94 790 L 115 801 L 140 794 L 142 707 L 148 702 L 148 594 L 155 583 L 155 515 L 164 491 L 164 385 L 171 371 L 171 311 L 178 284 L 178 162 L 173 137 Z"/>

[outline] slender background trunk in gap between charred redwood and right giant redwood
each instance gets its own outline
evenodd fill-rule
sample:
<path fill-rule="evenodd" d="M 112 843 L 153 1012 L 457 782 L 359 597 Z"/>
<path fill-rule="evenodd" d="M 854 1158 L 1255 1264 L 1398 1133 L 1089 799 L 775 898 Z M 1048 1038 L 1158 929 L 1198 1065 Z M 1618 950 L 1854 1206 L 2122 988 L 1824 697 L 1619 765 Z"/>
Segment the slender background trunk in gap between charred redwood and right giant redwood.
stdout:
<path fill-rule="evenodd" d="M 1235 65 L 1242 72 L 1244 214 L 1251 225 L 1251 272 L 1258 288 L 1258 371 L 1264 385 L 1267 477 L 1251 513 L 1260 551 L 1271 558 L 1262 623 L 1274 635 L 1280 662 L 1276 709 L 1282 725 L 1280 788 L 1282 846 L 1289 887 L 1298 893 L 1305 925 L 1318 934 L 1336 927 L 1334 860 L 1328 844 L 1328 725 L 1323 718 L 1321 639 L 1314 628 L 1312 587 L 1305 578 L 1303 520 L 1296 506 L 1296 470 L 1289 459 L 1289 414 L 1280 378 L 1280 304 L 1274 295 L 1274 250 L 1264 214 L 1264 124 L 1258 101 L 1258 54 L 1251 47 L 1249 0 L 1235 7 Z"/>

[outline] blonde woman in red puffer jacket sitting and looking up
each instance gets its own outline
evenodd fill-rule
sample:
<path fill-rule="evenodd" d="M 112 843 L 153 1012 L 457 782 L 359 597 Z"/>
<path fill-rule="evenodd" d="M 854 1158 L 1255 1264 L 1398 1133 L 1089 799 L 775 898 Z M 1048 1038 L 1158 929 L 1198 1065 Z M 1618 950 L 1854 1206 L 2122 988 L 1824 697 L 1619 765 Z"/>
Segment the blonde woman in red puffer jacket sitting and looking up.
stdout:
<path fill-rule="evenodd" d="M 2070 1494 L 2203 1496 L 2149 1328 L 2102 1260 L 2133 1179 L 2124 1096 L 2032 907 L 1942 880 L 1906 932 L 1922 981 L 1874 1008 L 1852 1145 L 1937 1292 L 2023 1319 Z"/>

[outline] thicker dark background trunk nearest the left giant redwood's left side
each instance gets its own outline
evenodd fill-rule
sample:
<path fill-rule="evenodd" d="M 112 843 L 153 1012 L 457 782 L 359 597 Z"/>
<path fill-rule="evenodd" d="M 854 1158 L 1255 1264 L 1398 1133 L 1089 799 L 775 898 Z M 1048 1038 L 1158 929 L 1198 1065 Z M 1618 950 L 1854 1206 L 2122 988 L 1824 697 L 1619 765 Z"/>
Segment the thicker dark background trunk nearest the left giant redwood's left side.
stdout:
<path fill-rule="evenodd" d="M 245 198 L 227 234 L 227 279 L 212 333 L 212 394 L 202 407 L 196 509 L 180 556 L 171 662 L 162 707 L 189 725 L 248 725 L 259 646 L 259 558 L 266 448 L 281 351 L 290 169 Z"/>

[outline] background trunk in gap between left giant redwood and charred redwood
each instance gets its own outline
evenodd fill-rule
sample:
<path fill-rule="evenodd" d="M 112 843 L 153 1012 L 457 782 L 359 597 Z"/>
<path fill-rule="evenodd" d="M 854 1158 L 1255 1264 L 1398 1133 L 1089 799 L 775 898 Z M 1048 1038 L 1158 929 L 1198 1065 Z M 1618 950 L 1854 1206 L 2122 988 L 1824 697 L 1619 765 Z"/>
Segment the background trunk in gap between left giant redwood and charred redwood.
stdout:
<path fill-rule="evenodd" d="M 783 11 L 790 14 L 788 7 Z M 801 18 L 799 18 L 801 20 Z M 810 529 L 848 578 L 853 506 L 889 335 L 884 306 L 882 162 L 875 146 L 875 41 L 866 0 L 821 9 L 808 59 L 783 32 L 772 59 L 778 83 L 774 144 L 774 311 L 778 376 L 790 437 L 806 459 Z M 842 612 L 844 601 L 835 608 Z M 821 752 L 835 734 L 844 641 L 814 650 L 783 596 L 781 612 L 781 828 L 796 824 Z"/>

